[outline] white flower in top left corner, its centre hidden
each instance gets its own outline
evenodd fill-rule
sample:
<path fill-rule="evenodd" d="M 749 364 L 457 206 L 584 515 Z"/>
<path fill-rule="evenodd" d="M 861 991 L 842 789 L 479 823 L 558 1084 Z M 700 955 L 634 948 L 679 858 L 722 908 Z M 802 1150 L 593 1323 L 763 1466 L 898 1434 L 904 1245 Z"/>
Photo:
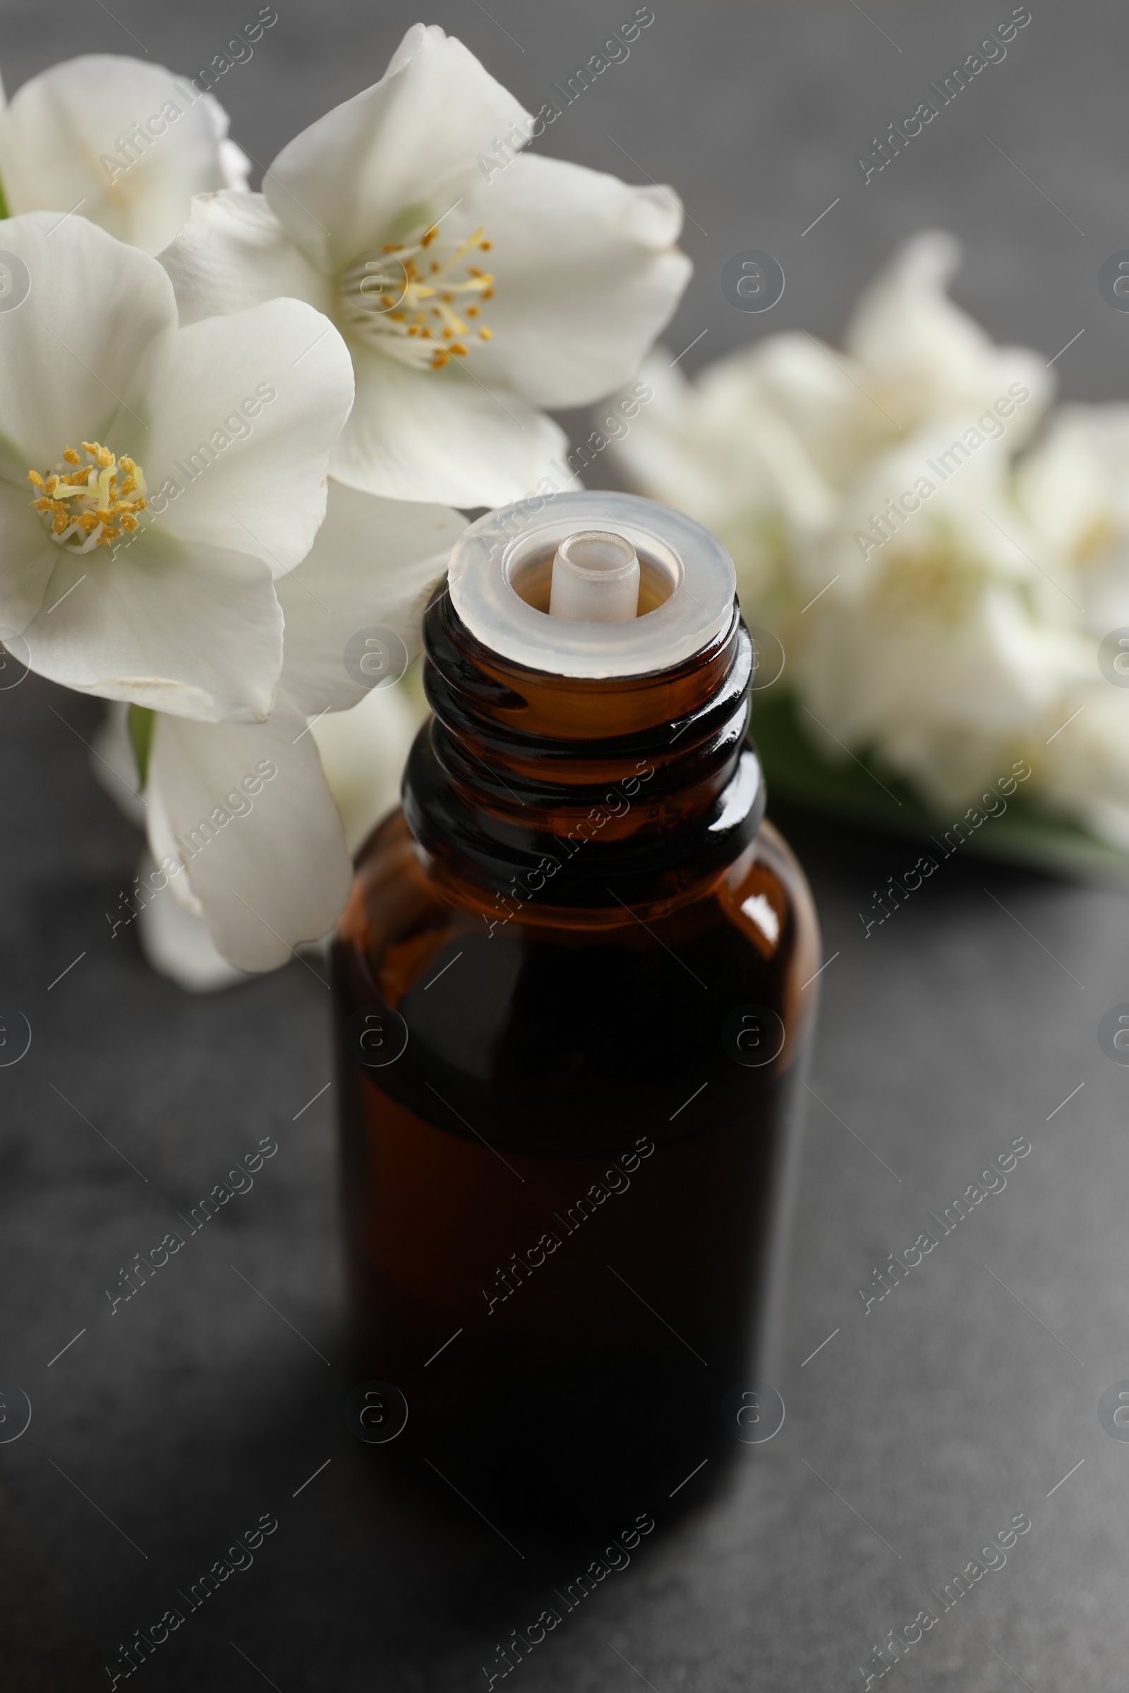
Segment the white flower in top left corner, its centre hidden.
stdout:
<path fill-rule="evenodd" d="M 156 254 L 193 195 L 244 190 L 251 161 L 227 112 L 188 78 L 113 54 L 68 59 L 0 98 L 0 188 L 8 213 L 80 212 Z"/>

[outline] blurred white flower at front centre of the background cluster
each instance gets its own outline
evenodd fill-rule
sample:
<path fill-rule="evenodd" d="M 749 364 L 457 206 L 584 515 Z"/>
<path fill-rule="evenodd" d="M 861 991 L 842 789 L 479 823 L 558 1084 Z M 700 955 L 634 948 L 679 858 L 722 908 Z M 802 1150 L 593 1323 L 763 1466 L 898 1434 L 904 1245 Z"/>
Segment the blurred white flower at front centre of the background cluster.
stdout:
<path fill-rule="evenodd" d="M 1085 657 L 1043 616 L 1044 550 L 1011 501 L 1004 450 L 985 442 L 943 477 L 931 467 L 951 433 L 878 455 L 848 489 L 792 669 L 829 760 L 870 750 L 943 808 L 1027 747 Z"/>

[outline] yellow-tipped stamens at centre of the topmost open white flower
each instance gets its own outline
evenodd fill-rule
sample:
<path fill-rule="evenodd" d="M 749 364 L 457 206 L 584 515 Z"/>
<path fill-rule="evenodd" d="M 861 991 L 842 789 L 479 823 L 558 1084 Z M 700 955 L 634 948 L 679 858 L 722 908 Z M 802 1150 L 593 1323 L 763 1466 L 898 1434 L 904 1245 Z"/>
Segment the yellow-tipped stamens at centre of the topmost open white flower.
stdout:
<path fill-rule="evenodd" d="M 452 357 L 465 359 L 471 337 L 493 335 L 474 318 L 479 301 L 494 293 L 494 278 L 469 262 L 491 245 L 481 229 L 465 240 L 445 240 L 435 223 L 425 223 L 405 240 L 362 254 L 340 279 L 342 328 L 416 369 L 442 371 Z"/>

